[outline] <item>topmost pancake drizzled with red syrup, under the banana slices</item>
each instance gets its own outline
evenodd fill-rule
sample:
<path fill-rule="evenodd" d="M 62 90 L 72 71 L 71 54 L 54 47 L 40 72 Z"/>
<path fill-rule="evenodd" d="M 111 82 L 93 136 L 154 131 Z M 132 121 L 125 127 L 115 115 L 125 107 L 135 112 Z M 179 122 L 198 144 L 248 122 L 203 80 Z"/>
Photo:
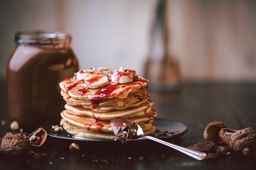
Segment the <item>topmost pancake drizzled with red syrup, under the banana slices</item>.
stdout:
<path fill-rule="evenodd" d="M 87 88 L 84 81 L 75 78 L 67 78 L 59 83 L 61 89 L 69 96 L 80 100 L 101 100 L 106 98 L 126 98 L 129 93 L 135 92 L 142 87 L 148 86 L 144 78 L 136 78 L 131 83 L 106 85 L 97 89 Z"/>

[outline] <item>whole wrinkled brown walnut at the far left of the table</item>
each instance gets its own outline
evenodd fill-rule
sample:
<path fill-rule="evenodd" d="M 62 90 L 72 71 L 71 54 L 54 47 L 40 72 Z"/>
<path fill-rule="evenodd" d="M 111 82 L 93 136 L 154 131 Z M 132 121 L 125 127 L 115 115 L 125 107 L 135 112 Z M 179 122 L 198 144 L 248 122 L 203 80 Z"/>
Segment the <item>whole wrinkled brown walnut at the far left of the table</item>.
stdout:
<path fill-rule="evenodd" d="M 29 140 L 23 133 L 11 134 L 9 132 L 2 139 L 1 150 L 9 156 L 26 153 L 29 150 Z"/>

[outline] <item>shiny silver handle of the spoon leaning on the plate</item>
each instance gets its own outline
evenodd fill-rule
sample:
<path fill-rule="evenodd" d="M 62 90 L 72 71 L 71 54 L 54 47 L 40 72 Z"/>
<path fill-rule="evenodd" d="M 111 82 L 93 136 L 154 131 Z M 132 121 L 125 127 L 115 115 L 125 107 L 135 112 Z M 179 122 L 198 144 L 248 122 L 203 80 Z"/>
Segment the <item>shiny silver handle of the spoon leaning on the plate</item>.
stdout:
<path fill-rule="evenodd" d="M 187 154 L 190 157 L 193 157 L 193 158 L 195 158 L 199 161 L 203 160 L 207 156 L 207 154 L 205 152 L 200 152 L 200 151 L 197 151 L 197 150 L 192 150 L 192 149 L 184 148 L 182 146 L 174 145 L 173 143 L 168 143 L 166 141 L 154 138 L 152 136 L 143 136 L 139 139 L 150 139 L 150 140 L 156 141 L 158 143 L 162 143 L 163 145 L 169 146 L 169 147 L 171 147 L 175 150 L 178 150 L 178 151 L 180 151 L 184 154 Z"/>

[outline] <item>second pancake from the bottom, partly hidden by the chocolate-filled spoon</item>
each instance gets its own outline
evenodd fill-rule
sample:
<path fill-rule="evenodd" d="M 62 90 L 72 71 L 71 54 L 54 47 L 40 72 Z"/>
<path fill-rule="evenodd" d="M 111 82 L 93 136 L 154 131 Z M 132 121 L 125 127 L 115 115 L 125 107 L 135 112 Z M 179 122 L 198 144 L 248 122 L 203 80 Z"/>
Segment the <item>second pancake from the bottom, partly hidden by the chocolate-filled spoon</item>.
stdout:
<path fill-rule="evenodd" d="M 152 112 L 144 115 L 130 118 L 131 121 L 139 125 L 151 124 L 155 117 L 157 116 L 157 112 L 153 110 Z M 75 114 L 71 114 L 67 112 L 67 110 L 63 110 L 61 112 L 61 117 L 68 124 L 74 125 L 78 128 L 83 128 L 89 131 L 103 131 L 103 132 L 113 132 L 110 121 L 100 121 L 89 117 L 78 116 Z"/>

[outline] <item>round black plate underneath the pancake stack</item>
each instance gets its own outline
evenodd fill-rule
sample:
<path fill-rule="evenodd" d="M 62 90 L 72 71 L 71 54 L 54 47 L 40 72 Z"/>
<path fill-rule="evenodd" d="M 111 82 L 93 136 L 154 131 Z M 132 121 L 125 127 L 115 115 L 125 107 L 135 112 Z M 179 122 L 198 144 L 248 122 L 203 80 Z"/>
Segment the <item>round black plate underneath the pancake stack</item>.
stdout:
<path fill-rule="evenodd" d="M 95 142 L 120 142 L 120 141 L 109 141 L 109 140 L 89 140 L 89 139 L 75 139 L 73 138 L 72 134 L 67 133 L 65 130 L 61 133 L 55 133 L 51 130 L 52 125 L 58 125 L 59 122 L 48 122 L 43 124 L 41 127 L 47 131 L 48 136 L 54 137 L 56 139 L 65 139 L 65 140 L 72 140 L 72 141 L 95 141 Z M 166 120 L 162 118 L 156 118 L 153 125 L 156 127 L 156 132 L 153 134 L 156 135 L 157 133 L 161 134 L 158 136 L 159 139 L 166 139 L 171 138 L 173 136 L 179 136 L 188 130 L 186 125 L 180 122 Z M 168 132 L 167 132 L 168 131 Z"/>

